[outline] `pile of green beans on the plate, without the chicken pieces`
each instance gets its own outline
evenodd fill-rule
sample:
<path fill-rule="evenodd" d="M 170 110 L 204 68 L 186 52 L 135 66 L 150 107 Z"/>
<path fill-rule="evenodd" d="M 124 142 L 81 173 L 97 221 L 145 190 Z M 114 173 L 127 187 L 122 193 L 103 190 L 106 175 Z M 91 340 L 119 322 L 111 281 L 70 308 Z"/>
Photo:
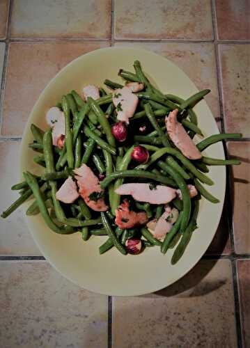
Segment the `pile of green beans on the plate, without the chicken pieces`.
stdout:
<path fill-rule="evenodd" d="M 165 94 L 153 84 L 145 74 L 141 63 L 134 62 L 134 72 L 120 69 L 119 82 L 104 80 L 99 88 L 100 98 L 83 98 L 76 90 L 65 93 L 56 106 L 65 117 L 65 140 L 62 148 L 52 143 L 52 129 L 42 130 L 31 125 L 33 143 L 29 148 L 39 152 L 33 157 L 40 167 L 40 175 L 28 171 L 23 173 L 24 180 L 14 184 L 11 189 L 19 191 L 19 197 L 1 214 L 7 218 L 22 203 L 33 198 L 26 209 L 28 216 L 41 214 L 47 226 L 58 234 L 80 232 L 84 241 L 98 237 L 102 240 L 100 254 L 111 248 L 117 248 L 122 255 L 127 255 L 127 239 L 141 239 L 142 249 L 158 246 L 165 254 L 175 248 L 171 263 L 175 264 L 185 253 L 192 232 L 196 229 L 199 199 L 211 203 L 219 200 L 207 189 L 214 182 L 208 176 L 210 166 L 237 165 L 237 159 L 216 159 L 205 154 L 199 160 L 190 160 L 173 145 L 166 131 L 165 118 L 173 109 L 178 109 L 178 122 L 182 123 L 187 134 L 203 137 L 203 130 L 198 127 L 198 116 L 194 106 L 203 100 L 210 90 L 201 90 L 187 99 L 178 95 Z M 118 143 L 112 133 L 112 126 L 118 122 L 117 111 L 110 90 L 123 88 L 129 82 L 143 84 L 143 90 L 134 93 L 139 99 L 134 116 L 127 127 L 126 141 Z M 105 90 L 105 88 L 108 90 Z M 142 127 L 143 126 L 143 127 Z M 141 130 L 143 129 L 143 130 Z M 241 134 L 215 134 L 197 143 L 200 152 L 218 141 L 240 139 Z M 197 142 L 197 141 L 196 141 Z M 146 163 L 138 164 L 132 159 L 136 145 L 141 145 L 149 152 Z M 56 199 L 56 193 L 63 182 L 72 177 L 74 169 L 86 164 L 100 178 L 100 187 L 104 191 L 104 200 L 108 205 L 106 212 L 96 212 L 88 207 L 81 196 L 70 205 Z M 164 239 L 157 239 L 147 226 L 119 228 L 117 212 L 121 197 L 116 189 L 123 182 L 147 182 L 178 189 L 170 207 L 178 209 L 178 218 L 173 223 Z M 198 195 L 191 198 L 188 184 L 196 187 Z M 153 185 L 153 187 L 155 187 Z M 181 199 L 180 199 L 181 198 Z M 164 214 L 164 205 L 138 202 L 130 197 L 130 209 L 144 212 L 148 221 L 156 222 Z M 106 238 L 106 239 L 105 239 Z"/>

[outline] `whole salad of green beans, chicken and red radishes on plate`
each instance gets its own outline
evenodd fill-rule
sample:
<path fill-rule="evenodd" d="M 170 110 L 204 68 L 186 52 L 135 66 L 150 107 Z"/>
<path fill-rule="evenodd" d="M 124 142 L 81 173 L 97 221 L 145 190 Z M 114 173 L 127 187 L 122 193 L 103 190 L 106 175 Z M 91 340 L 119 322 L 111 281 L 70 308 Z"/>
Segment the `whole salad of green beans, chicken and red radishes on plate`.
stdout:
<path fill-rule="evenodd" d="M 137 255 L 153 246 L 175 248 L 180 260 L 197 228 L 201 196 L 219 200 L 205 188 L 214 182 L 210 166 L 237 165 L 237 159 L 202 155 L 208 146 L 241 134 L 203 136 L 194 106 L 210 90 L 182 99 L 164 94 L 146 77 L 139 61 L 134 72 L 118 71 L 120 83 L 72 90 L 46 114 L 48 129 L 31 125 L 41 175 L 28 171 L 12 190 L 19 197 L 1 214 L 7 218 L 29 198 L 26 215 L 42 214 L 56 233 L 98 236 L 100 254 L 111 248 Z"/>

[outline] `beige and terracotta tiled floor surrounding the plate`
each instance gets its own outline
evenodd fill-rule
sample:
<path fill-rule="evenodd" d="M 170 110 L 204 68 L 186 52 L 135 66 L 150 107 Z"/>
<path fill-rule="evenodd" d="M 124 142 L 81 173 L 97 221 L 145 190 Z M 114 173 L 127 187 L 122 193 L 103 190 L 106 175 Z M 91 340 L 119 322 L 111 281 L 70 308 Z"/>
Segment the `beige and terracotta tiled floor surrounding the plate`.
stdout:
<path fill-rule="evenodd" d="M 244 136 L 225 147 L 242 165 L 228 170 L 214 241 L 187 276 L 155 294 L 81 290 L 43 260 L 21 210 L 1 219 L 1 347 L 250 347 L 249 12 L 248 0 L 0 0 L 0 210 L 15 197 L 8 187 L 42 88 L 97 48 L 166 56 L 212 89 L 206 100 L 219 127 Z"/>

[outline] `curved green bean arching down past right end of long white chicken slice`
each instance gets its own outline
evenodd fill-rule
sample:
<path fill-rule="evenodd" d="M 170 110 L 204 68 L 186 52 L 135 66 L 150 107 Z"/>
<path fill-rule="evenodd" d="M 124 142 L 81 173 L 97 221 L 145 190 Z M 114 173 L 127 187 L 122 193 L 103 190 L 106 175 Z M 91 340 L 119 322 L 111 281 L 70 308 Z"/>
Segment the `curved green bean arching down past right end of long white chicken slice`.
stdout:
<path fill-rule="evenodd" d="M 191 199 L 189 196 L 189 189 L 187 188 L 187 184 L 185 183 L 182 176 L 171 166 L 166 166 L 166 164 L 164 164 L 164 162 L 162 161 L 159 161 L 158 164 L 161 168 L 164 168 L 164 171 L 166 171 L 166 173 L 173 177 L 182 193 L 183 216 L 180 224 L 180 230 L 184 231 L 189 222 L 189 217 L 191 213 Z"/>

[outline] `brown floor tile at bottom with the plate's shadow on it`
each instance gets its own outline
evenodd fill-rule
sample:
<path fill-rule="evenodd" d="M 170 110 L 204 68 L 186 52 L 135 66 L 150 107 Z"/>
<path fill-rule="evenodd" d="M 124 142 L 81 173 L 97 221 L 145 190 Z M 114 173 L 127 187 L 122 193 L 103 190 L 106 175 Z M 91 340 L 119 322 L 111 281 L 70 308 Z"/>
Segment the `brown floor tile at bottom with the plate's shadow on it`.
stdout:
<path fill-rule="evenodd" d="M 114 298 L 113 347 L 237 347 L 228 260 L 201 260 L 166 289 Z"/>

